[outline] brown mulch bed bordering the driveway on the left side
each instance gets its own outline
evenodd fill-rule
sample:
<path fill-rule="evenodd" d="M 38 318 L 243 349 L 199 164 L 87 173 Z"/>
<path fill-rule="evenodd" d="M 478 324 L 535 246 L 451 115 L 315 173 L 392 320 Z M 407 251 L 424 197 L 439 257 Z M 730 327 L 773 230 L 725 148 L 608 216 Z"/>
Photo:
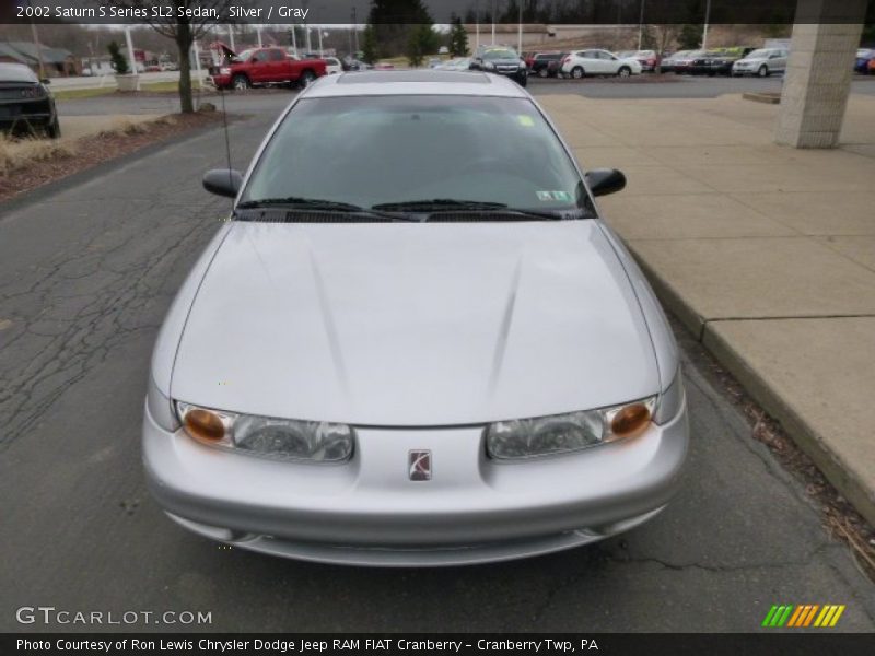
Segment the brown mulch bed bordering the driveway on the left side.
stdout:
<path fill-rule="evenodd" d="M 145 145 L 171 140 L 197 128 L 220 125 L 219 112 L 197 114 L 175 114 L 172 124 L 144 124 L 149 130 L 142 133 L 108 133 L 83 137 L 77 140 L 77 154 L 52 160 L 34 162 L 26 168 L 0 175 L 0 201 L 9 200 L 25 191 L 31 191 L 47 183 L 96 166 L 107 160 L 127 155 Z"/>

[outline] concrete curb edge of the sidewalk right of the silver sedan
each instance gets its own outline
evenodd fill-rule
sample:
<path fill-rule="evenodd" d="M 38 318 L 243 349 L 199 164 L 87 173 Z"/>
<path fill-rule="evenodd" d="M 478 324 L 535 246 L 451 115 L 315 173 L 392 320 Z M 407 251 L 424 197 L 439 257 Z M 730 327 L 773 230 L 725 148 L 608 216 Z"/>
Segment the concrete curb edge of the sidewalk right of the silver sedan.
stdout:
<path fill-rule="evenodd" d="M 784 400 L 740 353 L 709 328 L 708 323 L 692 309 L 670 282 L 654 272 L 646 260 L 634 250 L 634 246 L 627 243 L 627 247 L 663 305 L 736 377 L 747 393 L 781 423 L 796 446 L 812 458 L 827 480 L 870 524 L 875 526 L 875 490 L 860 480 L 830 449 L 829 440 L 822 433 L 800 417 L 792 405 Z"/>

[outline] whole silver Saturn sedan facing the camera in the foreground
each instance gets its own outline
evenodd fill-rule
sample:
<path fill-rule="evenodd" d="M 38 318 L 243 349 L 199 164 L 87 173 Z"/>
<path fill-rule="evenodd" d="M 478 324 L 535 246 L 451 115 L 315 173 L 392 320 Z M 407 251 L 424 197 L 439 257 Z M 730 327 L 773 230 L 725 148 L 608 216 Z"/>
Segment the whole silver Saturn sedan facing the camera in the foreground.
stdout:
<path fill-rule="evenodd" d="M 453 565 L 651 518 L 688 443 L 678 353 L 518 85 L 331 75 L 279 119 L 174 301 L 143 429 L 170 516 L 240 548 Z"/>

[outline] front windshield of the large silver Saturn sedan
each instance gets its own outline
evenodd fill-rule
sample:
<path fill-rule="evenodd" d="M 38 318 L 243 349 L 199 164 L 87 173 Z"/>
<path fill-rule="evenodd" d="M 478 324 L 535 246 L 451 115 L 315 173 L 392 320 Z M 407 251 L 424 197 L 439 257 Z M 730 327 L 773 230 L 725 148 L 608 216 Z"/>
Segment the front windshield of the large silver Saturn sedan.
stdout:
<path fill-rule="evenodd" d="M 433 199 L 587 207 L 561 142 L 526 98 L 304 98 L 277 129 L 241 198 L 305 197 L 371 209 Z"/>

